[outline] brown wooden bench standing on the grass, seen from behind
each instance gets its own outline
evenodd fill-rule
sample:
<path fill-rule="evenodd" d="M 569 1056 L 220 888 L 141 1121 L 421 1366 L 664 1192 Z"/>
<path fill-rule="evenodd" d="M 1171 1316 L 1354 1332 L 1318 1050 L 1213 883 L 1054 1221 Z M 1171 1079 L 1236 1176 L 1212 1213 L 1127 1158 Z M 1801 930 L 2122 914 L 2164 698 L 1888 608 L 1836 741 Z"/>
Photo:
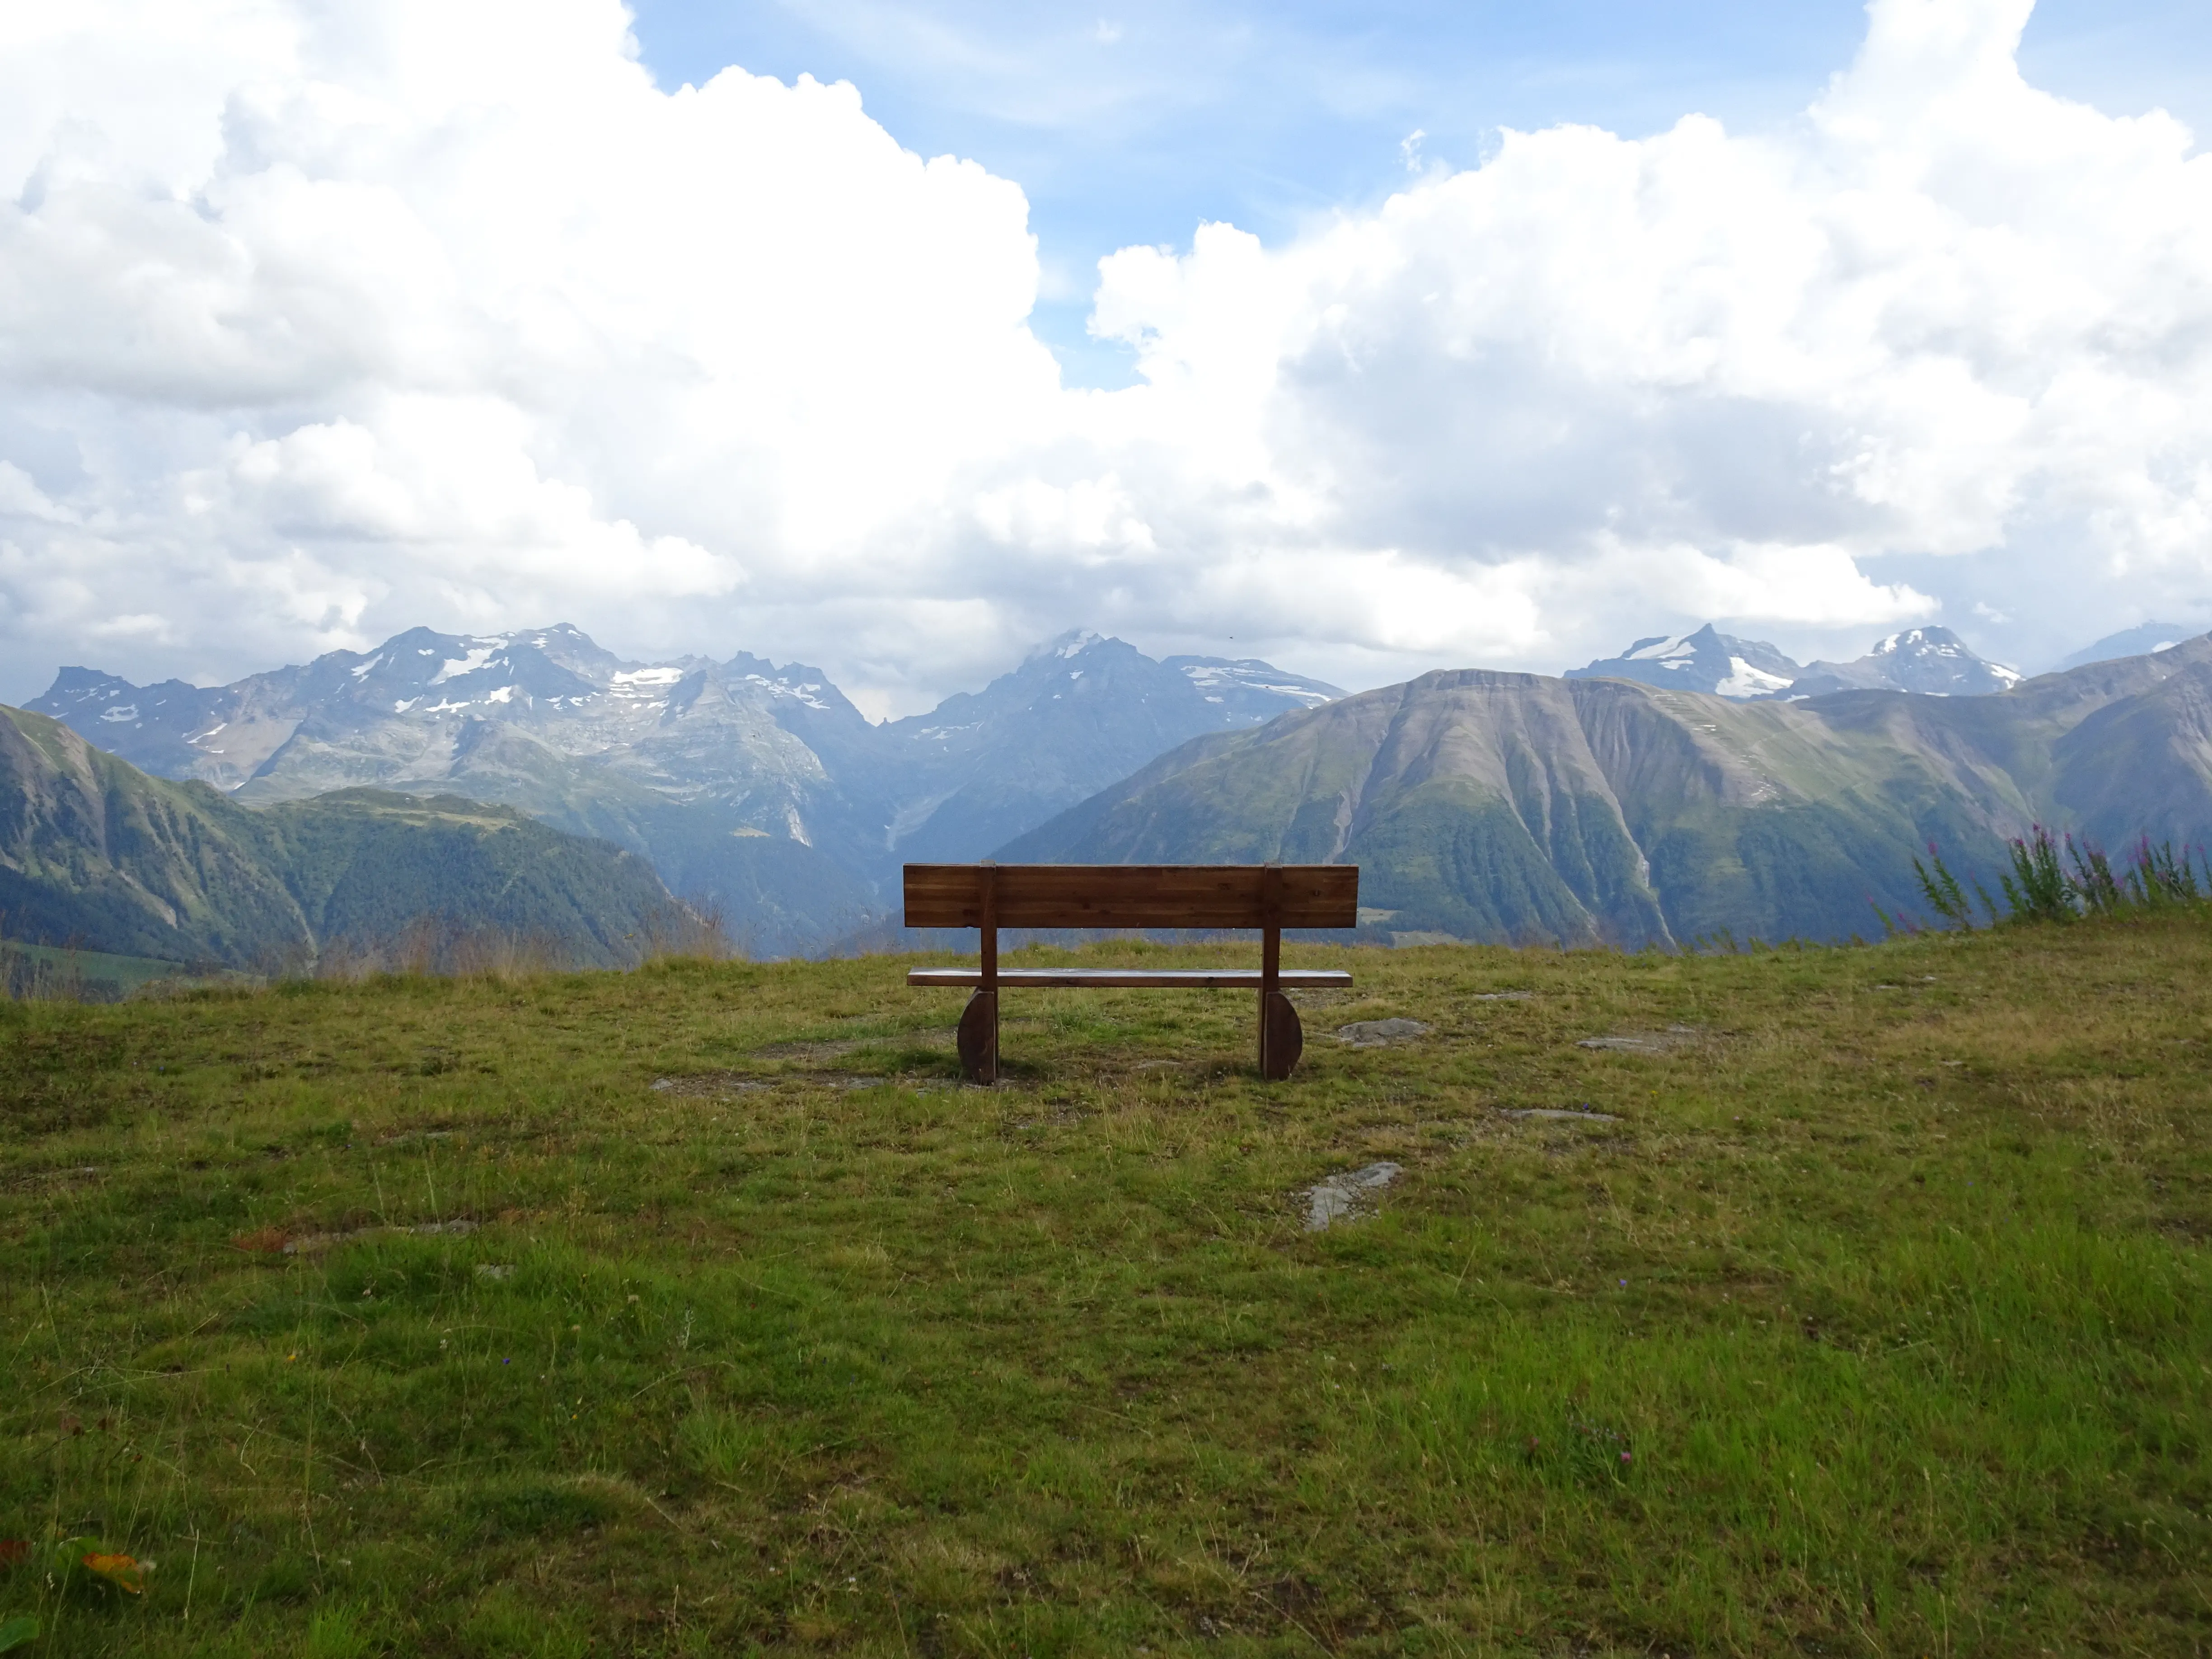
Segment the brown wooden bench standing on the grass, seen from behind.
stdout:
<path fill-rule="evenodd" d="M 1358 865 L 907 865 L 907 927 L 982 929 L 971 969 L 911 969 L 907 984 L 973 987 L 960 1071 L 998 1082 L 998 993 L 1119 987 L 1259 991 L 1261 1077 L 1305 1048 L 1285 987 L 1352 984 L 1340 969 L 1283 969 L 1285 927 L 1356 927 Z M 1002 927 L 1259 927 L 1256 969 L 1000 969 Z"/>

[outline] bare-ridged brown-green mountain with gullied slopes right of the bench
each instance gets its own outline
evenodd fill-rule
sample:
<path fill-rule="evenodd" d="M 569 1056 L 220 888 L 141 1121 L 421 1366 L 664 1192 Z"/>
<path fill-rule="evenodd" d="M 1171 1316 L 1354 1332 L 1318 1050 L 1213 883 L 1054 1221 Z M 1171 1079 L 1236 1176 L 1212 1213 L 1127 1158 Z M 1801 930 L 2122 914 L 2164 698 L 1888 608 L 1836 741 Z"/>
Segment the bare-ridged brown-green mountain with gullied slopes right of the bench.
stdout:
<path fill-rule="evenodd" d="M 2212 836 L 2212 639 L 1986 697 L 1425 675 L 1186 743 L 1000 858 L 1356 863 L 1380 931 L 1836 938 L 1922 909 L 1927 841 L 1989 872 L 2037 821 Z"/>

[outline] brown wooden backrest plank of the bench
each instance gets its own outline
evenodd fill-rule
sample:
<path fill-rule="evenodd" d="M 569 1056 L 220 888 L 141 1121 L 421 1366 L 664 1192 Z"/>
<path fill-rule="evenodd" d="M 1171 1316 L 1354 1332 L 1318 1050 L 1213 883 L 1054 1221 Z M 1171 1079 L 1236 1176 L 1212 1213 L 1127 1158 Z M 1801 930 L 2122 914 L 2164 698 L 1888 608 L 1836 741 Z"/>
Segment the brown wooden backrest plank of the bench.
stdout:
<path fill-rule="evenodd" d="M 1358 865 L 907 865 L 907 927 L 1358 927 Z"/>

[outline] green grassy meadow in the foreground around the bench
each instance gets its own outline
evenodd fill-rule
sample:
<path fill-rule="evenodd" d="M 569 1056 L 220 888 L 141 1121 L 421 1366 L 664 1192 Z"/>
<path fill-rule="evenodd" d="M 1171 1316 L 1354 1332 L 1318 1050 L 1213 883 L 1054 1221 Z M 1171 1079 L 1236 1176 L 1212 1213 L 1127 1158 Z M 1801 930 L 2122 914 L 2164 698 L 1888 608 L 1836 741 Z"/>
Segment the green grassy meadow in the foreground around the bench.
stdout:
<path fill-rule="evenodd" d="M 1245 998 L 1130 991 L 1013 995 L 962 1088 L 887 958 L 0 1006 L 0 1624 L 2212 1648 L 2203 920 L 1292 960 L 1358 991 L 1285 1086 Z"/>

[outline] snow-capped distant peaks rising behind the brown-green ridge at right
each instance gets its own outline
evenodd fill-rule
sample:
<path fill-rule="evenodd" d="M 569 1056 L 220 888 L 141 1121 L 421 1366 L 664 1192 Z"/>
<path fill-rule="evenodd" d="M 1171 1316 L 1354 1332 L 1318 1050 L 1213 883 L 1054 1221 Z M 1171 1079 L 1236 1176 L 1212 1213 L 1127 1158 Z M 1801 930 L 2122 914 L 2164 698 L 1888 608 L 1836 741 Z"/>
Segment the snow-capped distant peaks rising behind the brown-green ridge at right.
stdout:
<path fill-rule="evenodd" d="M 2128 653 L 2112 650 L 2108 655 Z M 1708 622 L 1697 633 L 1637 639 L 1619 657 L 1568 668 L 1566 679 L 1635 679 L 1670 690 L 1759 701 L 1820 697 L 1836 690 L 1989 697 L 2017 686 L 2020 672 L 1978 657 L 1949 628 L 1893 633 L 1887 639 L 1876 639 L 1874 650 L 1856 661 L 1796 664 L 1763 639 L 1736 639 Z"/>

